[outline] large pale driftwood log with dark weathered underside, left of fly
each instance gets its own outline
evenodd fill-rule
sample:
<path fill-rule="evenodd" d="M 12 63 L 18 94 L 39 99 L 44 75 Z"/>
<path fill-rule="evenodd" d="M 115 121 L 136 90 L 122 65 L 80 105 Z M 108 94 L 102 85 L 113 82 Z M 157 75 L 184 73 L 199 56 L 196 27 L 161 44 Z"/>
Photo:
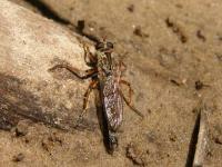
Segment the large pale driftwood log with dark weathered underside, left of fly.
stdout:
<path fill-rule="evenodd" d="M 87 69 L 83 49 L 73 33 L 7 0 L 0 1 L 0 128 L 29 118 L 60 128 L 74 124 L 88 81 L 60 62 Z"/>

